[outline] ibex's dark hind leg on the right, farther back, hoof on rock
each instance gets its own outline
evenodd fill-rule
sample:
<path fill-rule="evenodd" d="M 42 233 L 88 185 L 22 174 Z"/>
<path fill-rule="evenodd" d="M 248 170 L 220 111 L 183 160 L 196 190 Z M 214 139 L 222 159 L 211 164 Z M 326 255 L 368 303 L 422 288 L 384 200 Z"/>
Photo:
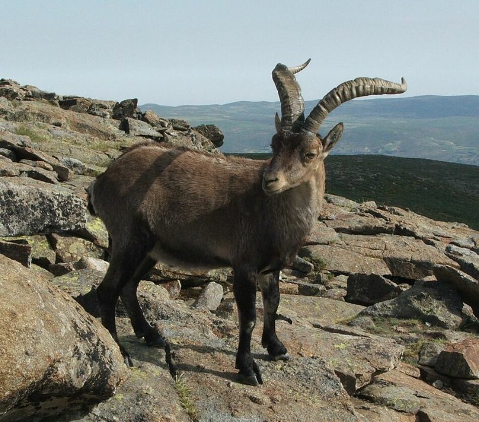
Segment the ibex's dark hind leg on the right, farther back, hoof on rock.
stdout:
<path fill-rule="evenodd" d="M 138 338 L 145 338 L 146 344 L 149 346 L 164 346 L 163 337 L 155 330 L 145 319 L 140 304 L 138 303 L 137 289 L 140 280 L 150 271 L 156 264 L 156 260 L 146 256 L 140 266 L 137 268 L 133 277 L 123 287 L 120 297 L 125 306 L 130 321 Z"/>

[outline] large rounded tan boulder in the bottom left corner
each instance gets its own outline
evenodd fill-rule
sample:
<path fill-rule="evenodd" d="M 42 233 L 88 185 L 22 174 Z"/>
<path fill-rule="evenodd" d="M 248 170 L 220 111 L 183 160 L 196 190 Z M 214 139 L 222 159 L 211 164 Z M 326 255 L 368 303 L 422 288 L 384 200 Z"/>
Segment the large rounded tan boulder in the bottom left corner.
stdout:
<path fill-rule="evenodd" d="M 126 377 L 109 333 L 65 293 L 0 255 L 0 420 L 51 420 Z"/>

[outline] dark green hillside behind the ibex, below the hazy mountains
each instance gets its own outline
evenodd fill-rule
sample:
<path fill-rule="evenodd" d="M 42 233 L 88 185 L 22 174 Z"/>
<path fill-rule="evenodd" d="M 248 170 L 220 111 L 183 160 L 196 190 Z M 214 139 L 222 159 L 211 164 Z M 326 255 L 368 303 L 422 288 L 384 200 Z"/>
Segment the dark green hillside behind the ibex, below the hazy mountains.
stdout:
<path fill-rule="evenodd" d="M 380 155 L 329 156 L 325 165 L 328 193 L 409 208 L 435 220 L 479 229 L 478 166 Z"/>

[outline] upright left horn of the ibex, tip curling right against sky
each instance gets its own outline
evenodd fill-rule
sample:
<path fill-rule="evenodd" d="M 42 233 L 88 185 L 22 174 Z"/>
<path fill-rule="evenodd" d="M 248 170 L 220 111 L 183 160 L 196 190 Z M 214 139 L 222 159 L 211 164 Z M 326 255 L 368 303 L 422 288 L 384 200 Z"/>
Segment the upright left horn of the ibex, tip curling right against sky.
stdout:
<path fill-rule="evenodd" d="M 281 101 L 281 129 L 283 130 L 291 130 L 297 118 L 305 110 L 305 100 L 301 96 L 301 88 L 294 74 L 301 72 L 310 62 L 311 58 L 293 68 L 278 63 L 273 69 L 273 81 Z"/>

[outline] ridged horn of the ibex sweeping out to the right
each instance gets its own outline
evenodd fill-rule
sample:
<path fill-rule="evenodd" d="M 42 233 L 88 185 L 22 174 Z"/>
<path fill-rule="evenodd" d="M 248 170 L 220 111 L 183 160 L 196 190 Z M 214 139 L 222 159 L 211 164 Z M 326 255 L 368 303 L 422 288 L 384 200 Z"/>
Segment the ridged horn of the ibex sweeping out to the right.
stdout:
<path fill-rule="evenodd" d="M 357 97 L 381 94 L 402 94 L 407 89 L 404 78 L 401 83 L 386 81 L 380 78 L 356 78 L 343 82 L 329 91 L 306 118 L 302 131 L 317 133 L 328 114 L 343 102 Z"/>

